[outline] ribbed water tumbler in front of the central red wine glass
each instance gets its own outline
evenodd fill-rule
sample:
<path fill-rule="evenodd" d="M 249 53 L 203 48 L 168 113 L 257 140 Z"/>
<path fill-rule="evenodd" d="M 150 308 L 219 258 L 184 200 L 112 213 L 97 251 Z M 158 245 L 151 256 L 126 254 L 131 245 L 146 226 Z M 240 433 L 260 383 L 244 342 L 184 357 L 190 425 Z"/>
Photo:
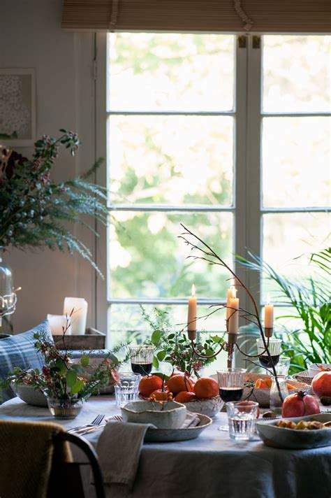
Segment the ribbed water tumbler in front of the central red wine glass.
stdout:
<path fill-rule="evenodd" d="M 228 413 L 229 434 L 236 441 L 253 439 L 255 422 L 258 416 L 258 403 L 242 405 L 240 402 L 229 401 L 226 404 Z"/>

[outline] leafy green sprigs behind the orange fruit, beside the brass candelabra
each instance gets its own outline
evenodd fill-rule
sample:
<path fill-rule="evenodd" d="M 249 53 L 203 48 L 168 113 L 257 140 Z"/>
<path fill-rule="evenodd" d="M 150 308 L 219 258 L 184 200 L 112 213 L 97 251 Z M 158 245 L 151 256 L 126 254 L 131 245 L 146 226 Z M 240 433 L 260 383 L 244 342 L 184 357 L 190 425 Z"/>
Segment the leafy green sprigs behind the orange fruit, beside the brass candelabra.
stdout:
<path fill-rule="evenodd" d="M 167 311 L 154 308 L 154 315 L 151 318 L 142 308 L 142 315 L 153 331 L 150 342 L 156 346 L 154 368 L 158 369 L 161 362 L 167 362 L 173 369 L 186 372 L 188 376 L 194 373 L 199 377 L 199 370 L 216 360 L 215 357 L 197 357 L 184 329 L 172 332 L 174 327 L 170 325 Z M 196 349 L 201 355 L 212 355 L 222 340 L 219 336 L 209 336 L 201 332 Z"/>

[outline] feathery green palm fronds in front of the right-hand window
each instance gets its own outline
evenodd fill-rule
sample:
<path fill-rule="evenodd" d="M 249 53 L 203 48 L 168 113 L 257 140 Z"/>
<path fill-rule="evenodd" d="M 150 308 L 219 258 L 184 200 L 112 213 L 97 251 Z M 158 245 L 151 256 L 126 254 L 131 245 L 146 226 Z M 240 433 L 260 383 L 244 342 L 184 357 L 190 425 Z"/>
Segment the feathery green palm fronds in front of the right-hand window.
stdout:
<path fill-rule="evenodd" d="M 330 273 L 331 249 L 313 253 L 310 257 L 311 276 L 294 280 L 275 271 L 260 257 L 249 252 L 250 261 L 237 259 L 249 269 L 259 271 L 265 278 L 276 283 L 278 294 L 274 300 L 290 308 L 281 319 L 299 319 L 300 328 L 287 329 L 284 333 L 283 354 L 291 359 L 290 373 L 307 369 L 311 363 L 331 362 L 331 301 Z"/>

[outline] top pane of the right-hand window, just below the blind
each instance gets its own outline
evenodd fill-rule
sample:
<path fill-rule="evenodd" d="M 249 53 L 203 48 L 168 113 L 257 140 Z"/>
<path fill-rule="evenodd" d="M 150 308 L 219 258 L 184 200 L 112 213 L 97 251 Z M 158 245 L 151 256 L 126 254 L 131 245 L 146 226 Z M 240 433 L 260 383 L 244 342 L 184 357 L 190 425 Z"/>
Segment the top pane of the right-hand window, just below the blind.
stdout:
<path fill-rule="evenodd" d="M 331 111 L 331 36 L 263 36 L 263 111 Z"/>

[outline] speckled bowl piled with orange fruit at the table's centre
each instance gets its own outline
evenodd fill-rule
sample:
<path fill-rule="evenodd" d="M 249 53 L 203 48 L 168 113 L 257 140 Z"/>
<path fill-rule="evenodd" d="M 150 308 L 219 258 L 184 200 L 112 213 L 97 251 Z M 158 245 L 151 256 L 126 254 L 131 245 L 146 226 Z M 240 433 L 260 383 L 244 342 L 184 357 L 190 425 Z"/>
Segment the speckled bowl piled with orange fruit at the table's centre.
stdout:
<path fill-rule="evenodd" d="M 161 378 L 156 375 L 140 380 L 140 397 L 152 401 L 169 401 L 173 399 L 184 404 L 188 411 L 214 417 L 223 407 L 219 397 L 219 385 L 213 378 L 201 377 L 196 382 L 182 372 Z"/>

